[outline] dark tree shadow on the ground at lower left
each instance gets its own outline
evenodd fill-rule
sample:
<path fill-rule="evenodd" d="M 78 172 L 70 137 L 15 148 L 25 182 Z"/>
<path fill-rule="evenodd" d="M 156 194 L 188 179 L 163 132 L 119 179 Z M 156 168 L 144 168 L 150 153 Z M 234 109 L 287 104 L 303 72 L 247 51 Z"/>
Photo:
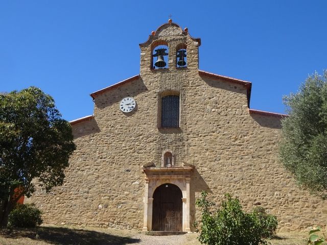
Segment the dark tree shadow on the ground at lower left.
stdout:
<path fill-rule="evenodd" d="M 5 238 L 31 238 L 51 244 L 101 244 L 124 245 L 137 243 L 140 239 L 111 235 L 99 231 L 71 229 L 64 227 L 39 227 L 31 229 L 2 230 L 0 235 Z"/>

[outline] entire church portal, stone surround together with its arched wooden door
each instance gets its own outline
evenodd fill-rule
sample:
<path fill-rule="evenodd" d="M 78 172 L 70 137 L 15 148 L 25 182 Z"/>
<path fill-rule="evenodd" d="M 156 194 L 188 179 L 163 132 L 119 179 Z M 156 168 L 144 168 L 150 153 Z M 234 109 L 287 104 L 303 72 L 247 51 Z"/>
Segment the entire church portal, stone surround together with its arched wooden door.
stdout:
<path fill-rule="evenodd" d="M 144 231 L 191 231 L 190 180 L 193 169 L 193 165 L 143 168 L 146 174 Z M 172 191 L 173 197 L 167 193 L 169 190 Z M 154 201 L 154 199 L 160 200 Z M 177 199 L 181 199 L 181 207 Z M 158 220 L 153 222 L 153 218 Z"/>

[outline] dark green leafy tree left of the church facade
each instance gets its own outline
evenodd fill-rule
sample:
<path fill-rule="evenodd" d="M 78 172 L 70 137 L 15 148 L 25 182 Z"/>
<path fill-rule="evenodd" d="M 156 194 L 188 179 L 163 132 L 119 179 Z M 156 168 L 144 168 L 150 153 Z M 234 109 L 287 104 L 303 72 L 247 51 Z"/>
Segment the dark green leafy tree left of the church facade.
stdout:
<path fill-rule="evenodd" d="M 0 228 L 17 200 L 61 185 L 75 150 L 72 128 L 53 98 L 36 87 L 0 94 Z M 14 190 L 19 187 L 19 193 Z"/>

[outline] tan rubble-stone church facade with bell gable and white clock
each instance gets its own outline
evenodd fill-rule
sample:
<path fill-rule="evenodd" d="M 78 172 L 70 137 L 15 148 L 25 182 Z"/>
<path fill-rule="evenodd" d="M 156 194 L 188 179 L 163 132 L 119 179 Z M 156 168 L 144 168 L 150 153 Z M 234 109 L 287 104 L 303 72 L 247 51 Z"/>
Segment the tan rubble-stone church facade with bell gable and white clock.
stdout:
<path fill-rule="evenodd" d="M 278 162 L 285 115 L 250 109 L 250 82 L 199 70 L 200 45 L 170 20 L 139 44 L 139 75 L 90 94 L 64 184 L 32 197 L 45 224 L 193 231 L 202 190 L 261 205 L 281 229 L 324 224 L 325 202 Z"/>

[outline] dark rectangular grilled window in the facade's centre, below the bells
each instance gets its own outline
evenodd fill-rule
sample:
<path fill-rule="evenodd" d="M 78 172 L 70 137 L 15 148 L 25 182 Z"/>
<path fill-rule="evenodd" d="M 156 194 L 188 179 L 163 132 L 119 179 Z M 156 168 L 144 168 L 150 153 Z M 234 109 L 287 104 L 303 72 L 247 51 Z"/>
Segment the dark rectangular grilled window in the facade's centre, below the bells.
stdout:
<path fill-rule="evenodd" d="M 162 97 L 161 128 L 179 128 L 179 96 Z"/>

